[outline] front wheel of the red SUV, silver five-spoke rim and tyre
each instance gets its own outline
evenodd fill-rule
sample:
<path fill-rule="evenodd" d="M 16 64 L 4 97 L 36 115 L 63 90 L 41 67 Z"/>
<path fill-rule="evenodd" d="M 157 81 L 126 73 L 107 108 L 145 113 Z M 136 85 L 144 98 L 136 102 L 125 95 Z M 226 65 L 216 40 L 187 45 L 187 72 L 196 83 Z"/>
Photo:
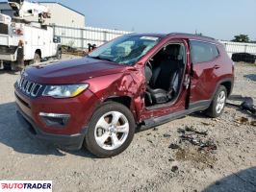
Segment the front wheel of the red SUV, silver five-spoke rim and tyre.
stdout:
<path fill-rule="evenodd" d="M 129 108 L 107 102 L 92 115 L 84 146 L 98 157 L 116 156 L 130 145 L 135 128 Z"/>

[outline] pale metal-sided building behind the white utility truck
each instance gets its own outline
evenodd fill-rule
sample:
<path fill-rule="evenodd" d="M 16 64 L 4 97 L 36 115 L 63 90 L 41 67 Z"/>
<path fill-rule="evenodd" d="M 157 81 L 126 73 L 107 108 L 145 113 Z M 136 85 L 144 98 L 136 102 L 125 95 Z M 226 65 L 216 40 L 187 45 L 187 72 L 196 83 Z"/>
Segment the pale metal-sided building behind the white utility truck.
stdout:
<path fill-rule="evenodd" d="M 51 18 L 47 19 L 46 24 L 85 28 L 86 18 L 83 13 L 76 12 L 57 2 L 39 2 L 39 4 L 48 7 L 51 12 Z M 13 10 L 7 2 L 0 2 L 0 13 L 13 16 Z"/>

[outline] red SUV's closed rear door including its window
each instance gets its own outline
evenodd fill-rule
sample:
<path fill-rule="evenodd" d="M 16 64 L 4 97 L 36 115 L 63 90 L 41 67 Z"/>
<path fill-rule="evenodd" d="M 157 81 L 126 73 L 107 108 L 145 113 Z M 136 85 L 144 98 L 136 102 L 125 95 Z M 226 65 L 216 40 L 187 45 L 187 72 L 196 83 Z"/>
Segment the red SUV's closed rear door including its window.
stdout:
<path fill-rule="evenodd" d="M 215 43 L 190 41 L 192 75 L 190 108 L 207 105 L 218 81 L 218 48 Z"/>

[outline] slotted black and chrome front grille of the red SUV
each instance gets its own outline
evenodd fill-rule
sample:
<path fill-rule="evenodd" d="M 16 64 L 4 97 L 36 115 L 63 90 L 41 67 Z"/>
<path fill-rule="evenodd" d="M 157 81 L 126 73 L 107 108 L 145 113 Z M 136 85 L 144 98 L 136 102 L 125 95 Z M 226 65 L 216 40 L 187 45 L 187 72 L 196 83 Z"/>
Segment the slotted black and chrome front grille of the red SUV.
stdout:
<path fill-rule="evenodd" d="M 26 80 L 24 77 L 20 79 L 19 84 L 17 84 L 17 86 L 24 94 L 32 97 L 37 97 L 38 93 L 42 88 L 41 84 L 30 82 Z"/>

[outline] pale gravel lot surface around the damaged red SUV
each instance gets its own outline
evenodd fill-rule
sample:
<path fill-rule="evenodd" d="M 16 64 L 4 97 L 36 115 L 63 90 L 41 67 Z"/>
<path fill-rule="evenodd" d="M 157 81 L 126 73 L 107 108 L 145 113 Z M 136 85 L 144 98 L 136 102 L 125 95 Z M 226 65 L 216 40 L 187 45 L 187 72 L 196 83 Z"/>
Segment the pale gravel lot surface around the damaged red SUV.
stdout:
<path fill-rule="evenodd" d="M 0 71 L 0 180 L 53 180 L 54 191 L 256 191 L 255 116 L 226 107 L 218 119 L 194 113 L 136 133 L 121 155 L 99 159 L 29 138 L 15 115 L 18 73 Z M 256 65 L 238 63 L 233 95 L 256 103 Z M 235 102 L 235 101 L 231 101 Z M 235 102 L 239 103 L 239 102 Z M 244 122 L 239 118 L 246 117 Z M 179 143 L 178 129 L 208 131 L 217 150 Z M 168 148 L 171 143 L 181 149 Z"/>

